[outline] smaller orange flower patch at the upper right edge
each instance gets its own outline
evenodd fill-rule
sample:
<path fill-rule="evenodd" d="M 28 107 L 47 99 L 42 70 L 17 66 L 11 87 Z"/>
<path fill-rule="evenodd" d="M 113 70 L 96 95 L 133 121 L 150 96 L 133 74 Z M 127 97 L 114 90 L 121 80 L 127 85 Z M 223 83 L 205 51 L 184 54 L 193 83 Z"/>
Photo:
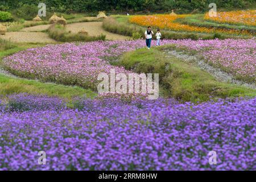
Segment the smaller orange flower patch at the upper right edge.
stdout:
<path fill-rule="evenodd" d="M 218 12 L 216 17 L 210 17 L 207 13 L 204 16 L 204 19 L 214 20 L 220 23 L 256 26 L 256 10 Z"/>

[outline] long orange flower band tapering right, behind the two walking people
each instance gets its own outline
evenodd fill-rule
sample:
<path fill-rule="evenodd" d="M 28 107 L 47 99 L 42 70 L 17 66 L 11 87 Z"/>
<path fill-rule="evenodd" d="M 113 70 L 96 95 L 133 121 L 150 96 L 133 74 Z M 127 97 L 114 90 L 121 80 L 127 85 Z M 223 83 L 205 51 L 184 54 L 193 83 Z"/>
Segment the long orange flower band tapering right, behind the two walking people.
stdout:
<path fill-rule="evenodd" d="M 197 27 L 190 26 L 187 24 L 180 24 L 175 22 L 178 18 L 185 18 L 189 14 L 184 15 L 135 15 L 131 16 L 129 19 L 130 23 L 135 23 L 140 26 L 151 26 L 153 28 L 162 28 L 174 31 L 187 31 L 187 32 L 205 32 L 205 33 L 214 33 L 221 32 L 226 34 L 243 34 L 250 35 L 250 32 L 243 30 L 224 30 L 220 28 L 207 28 L 207 27 Z"/>

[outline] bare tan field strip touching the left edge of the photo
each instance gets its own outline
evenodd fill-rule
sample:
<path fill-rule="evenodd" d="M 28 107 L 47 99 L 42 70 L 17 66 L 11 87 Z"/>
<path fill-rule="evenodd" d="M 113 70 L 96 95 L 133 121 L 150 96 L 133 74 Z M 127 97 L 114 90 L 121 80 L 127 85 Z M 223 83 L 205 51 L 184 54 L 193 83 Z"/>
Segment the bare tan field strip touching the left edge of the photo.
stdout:
<path fill-rule="evenodd" d="M 0 35 L 1 39 L 10 40 L 11 42 L 27 43 L 55 43 L 56 41 L 49 38 L 44 32 L 6 32 L 6 35 Z"/>

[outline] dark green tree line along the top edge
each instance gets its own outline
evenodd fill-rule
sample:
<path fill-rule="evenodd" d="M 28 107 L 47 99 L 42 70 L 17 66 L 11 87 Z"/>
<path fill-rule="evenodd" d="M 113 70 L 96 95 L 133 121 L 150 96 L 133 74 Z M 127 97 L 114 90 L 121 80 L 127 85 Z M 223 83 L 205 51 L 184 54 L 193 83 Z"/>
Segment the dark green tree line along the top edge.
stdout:
<path fill-rule="evenodd" d="M 96 11 L 119 12 L 157 12 L 157 11 L 182 11 L 189 13 L 193 10 L 207 11 L 209 3 L 216 3 L 217 8 L 241 9 L 255 6 L 255 0 L 5 0 L 0 1 L 0 10 L 14 10 L 23 5 L 46 3 L 50 11 L 65 13 L 86 13 Z"/>

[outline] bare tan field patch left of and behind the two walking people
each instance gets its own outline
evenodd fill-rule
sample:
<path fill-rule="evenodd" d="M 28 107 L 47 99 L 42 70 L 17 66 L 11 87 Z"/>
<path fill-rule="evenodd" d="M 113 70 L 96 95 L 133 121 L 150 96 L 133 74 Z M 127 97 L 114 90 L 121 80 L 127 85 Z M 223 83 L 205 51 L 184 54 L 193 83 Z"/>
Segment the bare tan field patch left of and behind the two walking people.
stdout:
<path fill-rule="evenodd" d="M 129 40 L 129 36 L 123 36 L 118 34 L 113 34 L 108 31 L 105 31 L 102 28 L 102 22 L 82 22 L 82 23 L 72 23 L 67 25 L 67 30 L 73 33 L 77 33 L 82 28 L 88 32 L 90 36 L 97 36 L 100 34 L 106 35 L 108 40 Z"/>

